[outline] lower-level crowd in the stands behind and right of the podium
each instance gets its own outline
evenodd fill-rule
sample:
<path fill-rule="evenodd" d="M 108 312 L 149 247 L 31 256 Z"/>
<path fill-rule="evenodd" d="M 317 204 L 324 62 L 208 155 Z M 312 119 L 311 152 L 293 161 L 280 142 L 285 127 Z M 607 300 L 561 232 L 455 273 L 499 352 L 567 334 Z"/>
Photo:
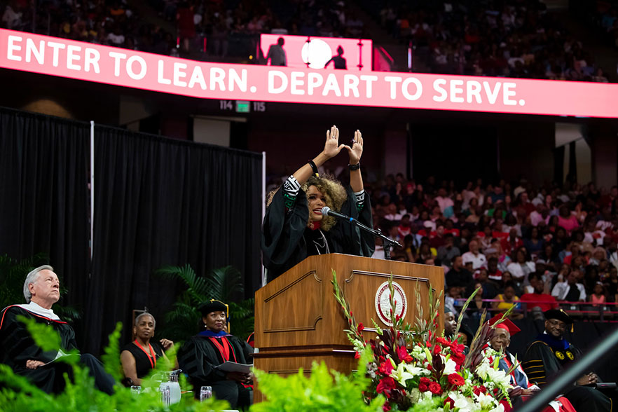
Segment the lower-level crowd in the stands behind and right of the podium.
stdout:
<path fill-rule="evenodd" d="M 522 301 L 537 316 L 558 305 L 598 315 L 599 306 L 618 302 L 616 186 L 479 179 L 458 189 L 397 174 L 366 190 L 376 227 L 403 245 L 392 259 L 444 268 L 447 305 L 481 287 L 469 315 L 521 309 Z M 384 257 L 379 240 L 373 256 Z"/>

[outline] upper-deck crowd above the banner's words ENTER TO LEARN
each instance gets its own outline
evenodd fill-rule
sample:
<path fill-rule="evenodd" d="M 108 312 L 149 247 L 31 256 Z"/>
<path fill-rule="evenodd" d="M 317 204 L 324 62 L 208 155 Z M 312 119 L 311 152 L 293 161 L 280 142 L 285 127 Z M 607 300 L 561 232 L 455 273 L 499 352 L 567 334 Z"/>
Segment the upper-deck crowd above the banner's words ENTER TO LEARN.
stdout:
<path fill-rule="evenodd" d="M 142 18 L 126 0 L 11 0 L 0 6 L 1 27 L 184 57 L 236 49 L 248 57 L 261 33 L 354 38 L 364 29 L 344 1 L 151 0 L 146 7 L 155 18 Z"/>

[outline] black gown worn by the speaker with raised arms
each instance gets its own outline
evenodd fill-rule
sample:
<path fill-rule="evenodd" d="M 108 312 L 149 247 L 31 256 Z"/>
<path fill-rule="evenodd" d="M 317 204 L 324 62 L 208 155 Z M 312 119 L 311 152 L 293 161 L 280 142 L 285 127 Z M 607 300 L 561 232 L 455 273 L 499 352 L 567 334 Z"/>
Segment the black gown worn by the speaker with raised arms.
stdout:
<path fill-rule="evenodd" d="M 346 191 L 348 200 L 343 203 L 340 212 L 373 228 L 369 194 L 365 193 L 364 207 L 359 213 L 352 188 L 348 186 Z M 285 207 L 282 189 L 273 195 L 273 201 L 266 209 L 261 240 L 262 261 L 268 270 L 269 282 L 313 254 L 313 248 L 308 247 L 304 235 L 308 221 L 308 199 L 302 190 L 298 191 L 291 210 Z M 327 237 L 331 253 L 371 257 L 376 247 L 373 235 L 343 221 L 322 232 Z"/>

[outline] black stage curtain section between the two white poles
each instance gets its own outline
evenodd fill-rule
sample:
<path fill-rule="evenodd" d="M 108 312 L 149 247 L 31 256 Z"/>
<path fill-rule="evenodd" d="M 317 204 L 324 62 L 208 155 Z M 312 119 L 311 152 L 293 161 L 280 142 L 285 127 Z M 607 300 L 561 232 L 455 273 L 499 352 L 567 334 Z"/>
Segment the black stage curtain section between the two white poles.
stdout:
<path fill-rule="evenodd" d="M 247 296 L 260 286 L 261 156 L 95 127 L 95 229 L 86 310 L 88 351 L 131 310 L 163 321 L 174 283 L 153 275 L 190 263 L 198 275 L 232 265 Z"/>

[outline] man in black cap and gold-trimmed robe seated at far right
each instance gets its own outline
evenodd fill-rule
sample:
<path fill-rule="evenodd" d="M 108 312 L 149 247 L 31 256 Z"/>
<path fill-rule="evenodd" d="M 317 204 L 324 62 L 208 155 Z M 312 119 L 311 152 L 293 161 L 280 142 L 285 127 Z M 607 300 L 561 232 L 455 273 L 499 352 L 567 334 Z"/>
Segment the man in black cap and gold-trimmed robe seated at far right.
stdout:
<path fill-rule="evenodd" d="M 544 315 L 545 331 L 528 346 L 523 357 L 523 370 L 528 379 L 541 388 L 561 373 L 570 362 L 582 356 L 582 352 L 564 338 L 567 325 L 573 323 L 571 317 L 559 309 L 547 310 Z M 564 396 L 577 411 L 612 411 L 612 400 L 609 397 L 593 387 L 586 386 L 598 381 L 596 373 L 586 373 L 565 390 Z"/>

